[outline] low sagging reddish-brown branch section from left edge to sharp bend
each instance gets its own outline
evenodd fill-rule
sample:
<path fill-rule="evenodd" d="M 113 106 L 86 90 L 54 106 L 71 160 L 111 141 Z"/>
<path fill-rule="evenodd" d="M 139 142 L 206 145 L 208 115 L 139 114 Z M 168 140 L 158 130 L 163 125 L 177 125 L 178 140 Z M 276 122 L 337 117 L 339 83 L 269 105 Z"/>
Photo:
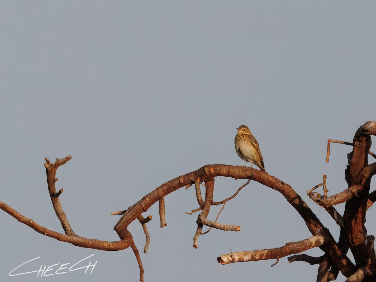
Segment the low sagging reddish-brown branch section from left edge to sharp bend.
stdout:
<path fill-rule="evenodd" d="M 56 240 L 59 240 L 59 241 L 71 243 L 77 247 L 91 248 L 91 249 L 104 250 L 104 251 L 120 251 L 120 250 L 127 249 L 127 247 L 131 246 L 131 244 L 133 243 L 133 238 L 130 234 L 129 236 L 125 237 L 123 240 L 114 241 L 114 242 L 101 241 L 97 239 L 88 239 L 88 238 L 84 238 L 80 236 L 64 235 L 56 231 L 47 229 L 43 226 L 40 226 L 39 224 L 35 223 L 35 221 L 23 216 L 22 214 L 15 211 L 14 209 L 12 209 L 10 206 L 6 205 L 2 201 L 0 201 L 0 209 L 12 215 L 12 217 L 17 219 L 21 223 L 26 224 L 27 226 L 31 227 L 38 233 L 41 233 L 51 238 L 55 238 Z"/>

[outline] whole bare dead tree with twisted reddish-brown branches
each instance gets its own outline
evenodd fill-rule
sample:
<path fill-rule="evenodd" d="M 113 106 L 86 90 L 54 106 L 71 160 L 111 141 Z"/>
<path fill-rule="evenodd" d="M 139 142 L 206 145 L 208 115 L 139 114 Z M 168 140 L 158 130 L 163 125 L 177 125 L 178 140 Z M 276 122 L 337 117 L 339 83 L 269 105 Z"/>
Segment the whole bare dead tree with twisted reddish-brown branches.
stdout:
<path fill-rule="evenodd" d="M 65 216 L 59 200 L 59 196 L 63 190 L 61 189 L 56 191 L 55 188 L 55 183 L 58 181 L 56 178 L 56 170 L 60 165 L 63 165 L 69 161 L 71 156 L 67 156 L 64 159 L 56 159 L 55 163 L 50 163 L 49 159 L 45 158 L 46 163 L 44 164 L 47 172 L 49 194 L 56 215 L 58 216 L 64 229 L 65 235 L 38 225 L 33 220 L 24 217 L 1 201 L 0 208 L 15 217 L 18 221 L 30 226 L 35 231 L 55 238 L 59 241 L 71 243 L 75 246 L 99 250 L 124 250 L 131 247 L 139 264 L 140 281 L 144 281 L 144 269 L 138 249 L 133 242 L 132 235 L 127 230 L 127 227 L 133 220 L 137 219 L 144 229 L 146 235 L 144 252 L 146 253 L 147 247 L 149 246 L 149 233 L 147 232 L 146 224 L 152 219 L 152 216 L 150 215 L 149 217 L 144 218 L 141 214 L 146 212 L 154 203 L 158 202 L 161 228 L 167 226 L 165 221 L 164 197 L 179 188 L 185 187 L 185 189 L 188 189 L 190 186 L 194 185 L 199 207 L 192 210 L 189 214 L 200 211 L 197 218 L 196 234 L 193 238 L 193 247 L 197 248 L 199 236 L 208 232 L 202 233 L 202 227 L 204 225 L 221 230 L 240 231 L 240 226 L 218 223 L 217 220 L 219 214 L 217 216 L 217 220 L 208 220 L 208 214 L 212 205 L 223 204 L 224 206 L 227 201 L 237 196 L 239 191 L 246 186 L 250 180 L 253 180 L 281 193 L 305 221 L 308 230 L 312 233 L 312 237 L 298 242 L 287 243 L 285 246 L 276 249 L 234 253 L 231 252 L 229 254 L 219 256 L 217 258 L 218 262 L 224 265 L 233 262 L 258 261 L 273 258 L 277 259 L 278 262 L 279 258 L 284 256 L 301 253 L 305 250 L 319 247 L 324 251 L 324 255 L 321 257 L 314 258 L 312 256 L 301 254 L 290 256 L 288 257 L 288 260 L 289 262 L 305 261 L 312 265 L 319 264 L 317 281 L 335 280 L 340 271 L 347 277 L 346 281 L 349 282 L 362 280 L 376 281 L 374 236 L 367 235 L 367 230 L 364 225 L 367 209 L 376 200 L 376 191 L 370 193 L 371 177 L 376 174 L 376 163 L 368 165 L 368 154 L 375 157 L 375 155 L 370 152 L 370 135 L 376 135 L 375 121 L 367 121 L 365 124 L 359 127 L 355 133 L 352 143 L 328 139 L 327 161 L 329 160 L 329 145 L 331 142 L 347 144 L 353 147 L 352 152 L 348 154 L 349 165 L 347 165 L 345 173 L 348 188 L 339 194 L 328 196 L 326 188 L 326 175 L 324 175 L 323 183 L 308 191 L 309 198 L 326 209 L 329 215 L 331 215 L 331 217 L 340 227 L 340 238 L 338 242 L 334 240 L 329 230 L 323 226 L 308 205 L 293 190 L 293 188 L 291 188 L 290 185 L 282 182 L 274 176 L 267 174 L 264 171 L 250 167 L 232 165 L 205 165 L 196 171 L 176 177 L 175 179 L 162 184 L 126 210 L 113 212 L 113 215 L 122 215 L 114 227 L 115 231 L 120 237 L 120 241 L 115 242 L 83 238 L 73 232 L 73 229 Z M 224 199 L 221 202 L 214 202 L 213 192 L 214 179 L 216 176 L 232 177 L 234 179 L 248 179 L 248 181 L 246 184 L 241 186 L 232 197 Z M 205 187 L 204 199 L 201 193 L 201 185 Z M 323 195 L 313 192 L 320 186 L 323 186 Z M 346 202 L 345 212 L 341 216 L 335 210 L 334 205 L 344 202 Z M 221 211 L 222 210 L 223 208 Z M 347 252 L 349 250 L 354 256 L 355 265 L 347 257 Z"/>

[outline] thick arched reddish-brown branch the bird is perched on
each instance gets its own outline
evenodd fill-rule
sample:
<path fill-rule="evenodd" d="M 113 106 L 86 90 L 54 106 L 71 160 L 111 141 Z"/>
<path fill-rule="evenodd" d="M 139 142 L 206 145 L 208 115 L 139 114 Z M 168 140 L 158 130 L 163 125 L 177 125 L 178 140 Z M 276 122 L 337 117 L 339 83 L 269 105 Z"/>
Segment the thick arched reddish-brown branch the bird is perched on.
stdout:
<path fill-rule="evenodd" d="M 281 193 L 303 218 L 312 235 L 321 235 L 321 232 L 324 232 L 326 240 L 324 245 L 320 248 L 330 256 L 332 262 L 337 265 L 340 271 L 346 277 L 354 273 L 355 266 L 353 263 L 346 254 L 341 252 L 329 230 L 324 228 L 320 220 L 302 198 L 293 190 L 293 188 L 276 177 L 266 173 L 261 173 L 261 171 L 250 167 L 221 164 L 205 165 L 196 171 L 172 179 L 144 196 L 141 200 L 135 203 L 135 205 L 129 207 L 115 225 L 114 229 L 118 233 L 124 232 L 127 226 L 135 220 L 140 213 L 147 211 L 147 209 L 149 209 L 150 206 L 157 202 L 161 197 L 165 197 L 173 191 L 185 187 L 188 183 L 194 182 L 198 177 L 201 177 L 202 181 L 208 181 L 214 179 L 216 176 L 232 177 L 235 179 L 249 179 L 252 177 L 252 180 Z"/>

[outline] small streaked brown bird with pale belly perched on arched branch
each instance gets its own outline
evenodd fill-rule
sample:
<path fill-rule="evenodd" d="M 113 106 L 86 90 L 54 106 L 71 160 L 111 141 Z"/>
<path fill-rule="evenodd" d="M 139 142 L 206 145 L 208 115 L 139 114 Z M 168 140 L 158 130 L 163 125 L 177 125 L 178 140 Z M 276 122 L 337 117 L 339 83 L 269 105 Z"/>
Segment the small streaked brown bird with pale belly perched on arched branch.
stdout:
<path fill-rule="evenodd" d="M 262 171 L 265 171 L 264 160 L 262 159 L 260 147 L 255 136 L 252 135 L 247 126 L 241 125 L 237 128 L 238 134 L 235 136 L 235 150 L 243 161 L 252 162 Z M 244 166 L 243 165 L 243 166 Z M 251 167 L 252 167 L 251 165 Z"/>

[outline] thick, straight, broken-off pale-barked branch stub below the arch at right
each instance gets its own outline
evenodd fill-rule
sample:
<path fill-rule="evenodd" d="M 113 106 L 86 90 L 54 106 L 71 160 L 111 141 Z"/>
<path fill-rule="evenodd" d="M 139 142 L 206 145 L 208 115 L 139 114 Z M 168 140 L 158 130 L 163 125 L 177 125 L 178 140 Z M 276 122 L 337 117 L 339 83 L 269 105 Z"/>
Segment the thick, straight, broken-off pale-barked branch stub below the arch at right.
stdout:
<path fill-rule="evenodd" d="M 287 243 L 285 246 L 280 248 L 235 252 L 226 255 L 221 255 L 218 256 L 217 261 L 220 264 L 230 264 L 233 262 L 241 261 L 261 261 L 277 257 L 282 258 L 293 253 L 301 253 L 306 250 L 322 246 L 324 244 L 324 241 L 324 236 L 316 235 L 302 241 Z"/>

